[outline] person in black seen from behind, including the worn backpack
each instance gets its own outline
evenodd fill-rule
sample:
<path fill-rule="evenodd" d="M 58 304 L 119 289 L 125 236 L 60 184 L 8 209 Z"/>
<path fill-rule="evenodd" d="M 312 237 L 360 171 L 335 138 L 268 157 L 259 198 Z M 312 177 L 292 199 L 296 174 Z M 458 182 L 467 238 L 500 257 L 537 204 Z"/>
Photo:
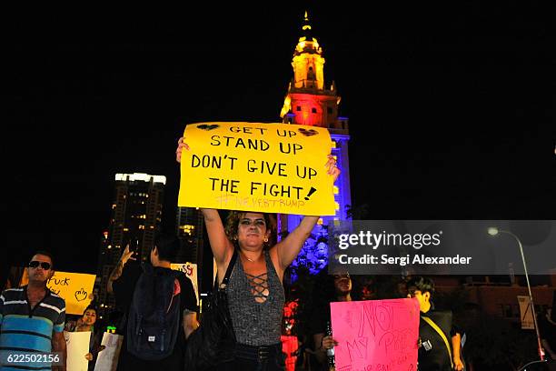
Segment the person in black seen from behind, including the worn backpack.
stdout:
<path fill-rule="evenodd" d="M 183 368 L 186 338 L 199 324 L 193 284 L 171 269 L 179 246 L 175 236 L 158 236 L 151 264 L 141 265 L 126 247 L 111 275 L 109 287 L 126 314 L 118 370 Z"/>

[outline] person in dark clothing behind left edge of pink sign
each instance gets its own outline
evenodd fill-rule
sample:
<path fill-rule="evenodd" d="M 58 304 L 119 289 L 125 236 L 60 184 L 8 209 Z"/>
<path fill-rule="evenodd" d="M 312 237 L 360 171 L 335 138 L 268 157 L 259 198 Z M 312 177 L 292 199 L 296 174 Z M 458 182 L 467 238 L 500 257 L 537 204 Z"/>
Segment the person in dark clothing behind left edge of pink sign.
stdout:
<path fill-rule="evenodd" d="M 324 268 L 323 272 L 328 269 Z M 322 275 L 323 276 L 323 275 Z M 321 300 L 314 303 L 310 332 L 313 334 L 314 351 L 311 352 L 318 362 L 317 370 L 328 370 L 327 351 L 338 345 L 333 335 L 327 335 L 331 324 L 330 303 L 352 301 L 352 278 L 349 274 L 326 275 L 322 284 Z"/>

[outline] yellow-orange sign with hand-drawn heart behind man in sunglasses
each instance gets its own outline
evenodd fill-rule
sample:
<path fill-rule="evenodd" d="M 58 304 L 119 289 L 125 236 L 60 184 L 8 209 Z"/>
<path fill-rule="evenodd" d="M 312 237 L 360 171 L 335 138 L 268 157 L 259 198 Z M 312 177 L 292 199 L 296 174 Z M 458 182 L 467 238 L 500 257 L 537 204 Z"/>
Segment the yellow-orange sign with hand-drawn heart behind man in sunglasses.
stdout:
<path fill-rule="evenodd" d="M 93 286 L 96 276 L 84 273 L 68 273 L 55 271 L 46 286 L 58 296 L 65 299 L 65 313 L 67 315 L 83 315 L 85 308 L 93 299 Z M 21 278 L 21 286 L 27 285 L 29 276 L 27 269 Z"/>

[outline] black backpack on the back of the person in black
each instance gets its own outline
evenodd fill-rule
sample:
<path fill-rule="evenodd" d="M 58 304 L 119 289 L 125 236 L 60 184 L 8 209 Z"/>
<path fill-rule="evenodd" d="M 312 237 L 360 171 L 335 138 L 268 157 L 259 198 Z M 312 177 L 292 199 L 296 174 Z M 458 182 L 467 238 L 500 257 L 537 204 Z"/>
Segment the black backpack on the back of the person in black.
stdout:
<path fill-rule="evenodd" d="M 180 331 L 180 295 L 174 285 L 182 274 L 143 265 L 127 318 L 127 351 L 156 361 L 172 355 Z"/>

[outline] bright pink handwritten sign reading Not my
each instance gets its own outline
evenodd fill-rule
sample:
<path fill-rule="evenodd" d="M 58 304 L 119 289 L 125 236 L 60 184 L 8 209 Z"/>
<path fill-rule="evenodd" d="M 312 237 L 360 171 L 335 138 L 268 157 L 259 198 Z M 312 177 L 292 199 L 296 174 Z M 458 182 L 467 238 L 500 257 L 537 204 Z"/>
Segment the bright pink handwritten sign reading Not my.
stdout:
<path fill-rule="evenodd" d="M 417 299 L 331 303 L 337 371 L 414 371 Z"/>

